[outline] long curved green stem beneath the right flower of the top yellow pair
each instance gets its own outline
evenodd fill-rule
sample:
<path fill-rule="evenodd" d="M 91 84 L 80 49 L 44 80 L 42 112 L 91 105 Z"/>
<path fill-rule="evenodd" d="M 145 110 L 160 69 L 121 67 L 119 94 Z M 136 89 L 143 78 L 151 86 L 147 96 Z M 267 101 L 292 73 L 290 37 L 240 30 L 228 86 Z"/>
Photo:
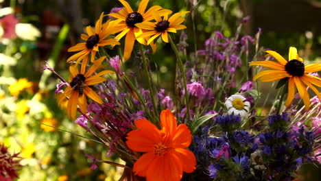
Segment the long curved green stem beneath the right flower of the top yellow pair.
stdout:
<path fill-rule="evenodd" d="M 189 114 L 189 93 L 187 92 L 186 75 L 185 75 L 184 67 L 182 64 L 182 59 L 180 59 L 180 55 L 178 55 L 178 50 L 177 50 L 173 40 L 171 39 L 171 36 L 168 35 L 168 38 L 169 38 L 169 42 L 171 43 L 171 48 L 174 50 L 174 52 L 176 54 L 176 58 L 178 60 L 178 67 L 180 67 L 180 72 L 182 73 L 184 90 L 185 90 L 185 102 L 186 102 L 186 109 L 187 109 L 187 123 L 190 123 L 191 115 Z"/>

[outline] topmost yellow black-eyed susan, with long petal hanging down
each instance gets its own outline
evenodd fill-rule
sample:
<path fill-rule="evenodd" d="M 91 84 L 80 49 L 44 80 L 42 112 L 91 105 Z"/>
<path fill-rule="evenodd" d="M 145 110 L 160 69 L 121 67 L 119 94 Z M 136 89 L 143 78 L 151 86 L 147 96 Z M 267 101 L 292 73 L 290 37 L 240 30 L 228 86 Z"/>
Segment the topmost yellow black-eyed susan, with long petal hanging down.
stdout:
<path fill-rule="evenodd" d="M 112 21 L 112 23 L 117 29 L 116 32 L 120 33 L 115 38 L 121 39 L 126 35 L 123 58 L 128 60 L 132 54 L 135 40 L 143 45 L 147 45 L 146 38 L 137 38 L 137 36 L 143 33 L 143 30 L 136 27 L 136 23 L 151 21 L 153 19 L 153 11 L 158 13 L 159 16 L 163 16 L 163 14 L 171 13 L 171 10 L 165 10 L 159 5 L 154 5 L 145 12 L 149 0 L 142 0 L 141 3 L 139 3 L 139 9 L 134 12 L 132 8 L 130 8 L 128 2 L 124 0 L 119 1 L 123 4 L 123 8 L 118 13 L 110 13 L 108 16 L 112 16 L 116 19 L 115 21 Z M 153 51 L 156 51 L 156 45 L 151 44 L 151 46 Z"/>

